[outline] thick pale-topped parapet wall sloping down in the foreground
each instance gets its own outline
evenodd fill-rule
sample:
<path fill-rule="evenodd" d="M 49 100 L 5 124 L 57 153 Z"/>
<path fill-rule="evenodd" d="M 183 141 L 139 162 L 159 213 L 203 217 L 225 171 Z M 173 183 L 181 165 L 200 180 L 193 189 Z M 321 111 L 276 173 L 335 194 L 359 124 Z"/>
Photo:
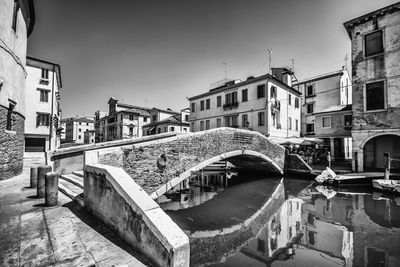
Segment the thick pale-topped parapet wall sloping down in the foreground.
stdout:
<path fill-rule="evenodd" d="M 85 207 L 152 266 L 189 266 L 189 238 L 121 168 L 87 165 Z"/>

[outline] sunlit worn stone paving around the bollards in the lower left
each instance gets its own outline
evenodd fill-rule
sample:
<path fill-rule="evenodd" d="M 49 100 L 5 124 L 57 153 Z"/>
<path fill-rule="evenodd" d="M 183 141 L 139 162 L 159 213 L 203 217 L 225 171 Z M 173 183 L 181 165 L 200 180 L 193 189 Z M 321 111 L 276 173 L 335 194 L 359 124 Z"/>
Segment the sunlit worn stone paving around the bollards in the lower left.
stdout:
<path fill-rule="evenodd" d="M 29 186 L 29 169 L 0 181 L 0 266 L 146 266 L 95 217 L 59 192 L 44 206 Z"/>

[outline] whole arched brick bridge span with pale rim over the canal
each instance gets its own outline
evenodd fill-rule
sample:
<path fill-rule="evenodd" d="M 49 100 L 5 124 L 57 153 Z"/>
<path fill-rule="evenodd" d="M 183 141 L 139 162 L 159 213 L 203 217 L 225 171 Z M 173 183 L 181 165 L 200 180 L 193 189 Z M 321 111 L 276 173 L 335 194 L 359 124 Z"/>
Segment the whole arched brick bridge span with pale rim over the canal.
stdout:
<path fill-rule="evenodd" d="M 85 162 L 123 168 L 151 197 L 211 163 L 229 159 L 239 168 L 283 174 L 285 149 L 258 132 L 217 128 L 177 134 L 118 148 L 87 151 Z"/>

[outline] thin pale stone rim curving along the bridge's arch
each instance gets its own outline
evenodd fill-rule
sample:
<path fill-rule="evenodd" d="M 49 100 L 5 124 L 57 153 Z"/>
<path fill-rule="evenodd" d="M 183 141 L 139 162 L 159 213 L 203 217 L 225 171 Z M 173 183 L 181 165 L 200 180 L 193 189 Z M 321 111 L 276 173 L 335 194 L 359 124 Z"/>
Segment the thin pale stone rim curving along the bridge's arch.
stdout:
<path fill-rule="evenodd" d="M 191 167 L 190 169 L 188 169 L 185 172 L 181 173 L 179 176 L 176 176 L 175 178 L 172 178 L 171 180 L 169 180 L 165 184 L 165 186 L 160 187 L 155 192 L 153 192 L 150 196 L 153 199 L 156 199 L 156 198 L 160 197 L 161 195 L 165 194 L 168 190 L 170 190 L 174 186 L 178 185 L 180 182 L 188 179 L 192 175 L 193 172 L 199 171 L 199 170 L 209 166 L 212 163 L 215 163 L 215 162 L 218 162 L 218 161 L 221 161 L 221 160 L 225 160 L 225 159 L 229 159 L 229 158 L 232 158 L 232 157 L 236 157 L 236 156 L 243 156 L 243 155 L 260 158 L 261 160 L 263 160 L 263 161 L 267 162 L 268 164 L 270 164 L 274 168 L 274 170 L 276 172 L 278 172 L 280 174 L 283 174 L 283 169 L 282 169 L 281 166 L 279 166 L 271 158 L 269 158 L 268 156 L 266 156 L 266 155 L 264 155 L 264 154 L 262 154 L 260 152 L 253 151 L 253 150 L 247 150 L 247 149 L 234 150 L 234 151 L 226 152 L 226 153 L 221 154 L 221 155 L 214 156 L 212 158 L 204 160 L 203 162 L 197 164 L 196 166 Z"/>

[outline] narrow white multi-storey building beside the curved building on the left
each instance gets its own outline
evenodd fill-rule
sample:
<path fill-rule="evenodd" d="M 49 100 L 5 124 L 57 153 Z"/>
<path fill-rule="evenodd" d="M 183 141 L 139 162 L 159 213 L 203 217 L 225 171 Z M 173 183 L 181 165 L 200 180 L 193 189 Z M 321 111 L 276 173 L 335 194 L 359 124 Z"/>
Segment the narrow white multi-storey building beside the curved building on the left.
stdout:
<path fill-rule="evenodd" d="M 61 71 L 56 63 L 27 57 L 25 90 L 25 152 L 45 152 L 60 146 Z"/>

